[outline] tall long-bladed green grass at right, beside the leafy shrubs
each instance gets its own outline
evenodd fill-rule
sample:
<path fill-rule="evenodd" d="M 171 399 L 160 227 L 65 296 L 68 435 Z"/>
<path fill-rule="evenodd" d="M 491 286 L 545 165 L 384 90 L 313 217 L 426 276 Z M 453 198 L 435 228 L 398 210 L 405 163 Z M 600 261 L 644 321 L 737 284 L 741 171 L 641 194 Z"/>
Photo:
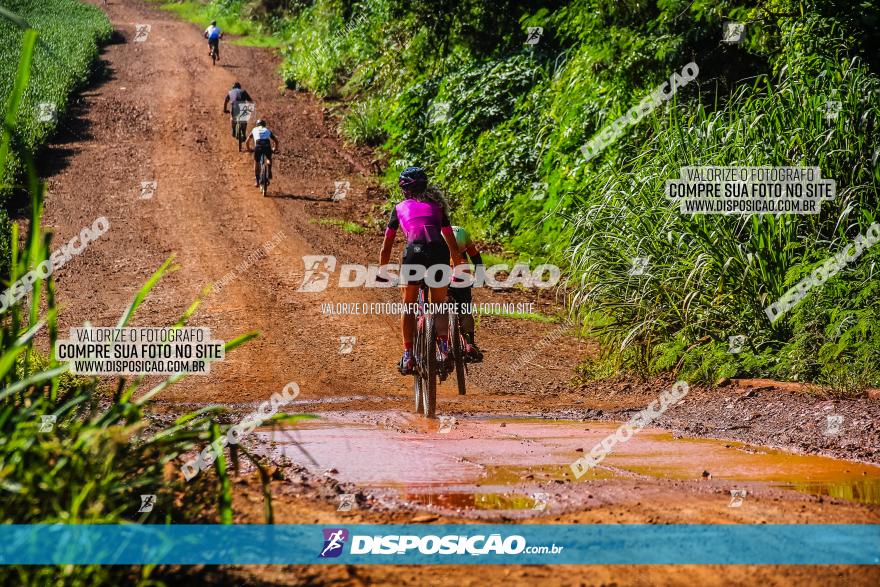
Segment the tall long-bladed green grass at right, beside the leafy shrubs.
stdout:
<path fill-rule="evenodd" d="M 619 366 L 706 381 L 770 374 L 835 387 L 880 384 L 869 295 L 876 250 L 777 323 L 764 313 L 880 216 L 872 160 L 880 80 L 841 50 L 845 39 L 822 19 L 788 21 L 781 43 L 777 73 L 729 97 L 670 105 L 649 132 L 624 139 L 598 163 L 601 173 L 579 198 L 572 302 L 601 316 L 596 332 Z M 842 103 L 836 120 L 825 116 L 832 97 Z M 837 198 L 815 216 L 685 216 L 663 196 L 665 181 L 685 165 L 816 166 L 836 181 Z M 629 274 L 636 257 L 651 260 L 647 274 Z M 832 335 L 847 315 L 860 319 Z M 731 354 L 728 337 L 738 334 L 748 348 Z"/>

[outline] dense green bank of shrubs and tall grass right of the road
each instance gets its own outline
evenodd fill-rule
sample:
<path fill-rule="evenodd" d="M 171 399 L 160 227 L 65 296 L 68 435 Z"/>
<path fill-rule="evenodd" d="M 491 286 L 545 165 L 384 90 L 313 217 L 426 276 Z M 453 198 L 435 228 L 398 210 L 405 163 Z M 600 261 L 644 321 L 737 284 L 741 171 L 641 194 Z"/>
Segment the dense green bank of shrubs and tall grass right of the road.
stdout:
<path fill-rule="evenodd" d="M 378 146 L 387 185 L 424 165 L 478 238 L 567 267 L 570 310 L 605 350 L 586 376 L 880 386 L 878 251 L 777 322 L 764 314 L 880 211 L 875 3 L 237 6 L 285 39 L 290 87 L 349 105 L 343 136 Z M 741 43 L 721 42 L 726 21 L 746 25 Z M 543 29 L 533 44 L 529 27 Z M 585 158 L 588 140 L 691 61 L 694 82 Z M 684 165 L 818 166 L 837 197 L 816 216 L 684 216 L 663 193 Z M 635 258 L 649 270 L 630 275 Z M 731 353 L 736 335 L 747 342 Z"/>

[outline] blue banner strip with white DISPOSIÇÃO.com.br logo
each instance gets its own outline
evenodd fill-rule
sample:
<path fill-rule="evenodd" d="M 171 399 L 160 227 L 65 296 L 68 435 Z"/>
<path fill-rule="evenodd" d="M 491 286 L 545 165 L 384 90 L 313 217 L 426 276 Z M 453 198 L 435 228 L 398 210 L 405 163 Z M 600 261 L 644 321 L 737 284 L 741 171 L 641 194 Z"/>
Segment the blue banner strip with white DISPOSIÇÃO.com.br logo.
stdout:
<path fill-rule="evenodd" d="M 880 525 L 2 525 L 0 564 L 876 565 Z"/>

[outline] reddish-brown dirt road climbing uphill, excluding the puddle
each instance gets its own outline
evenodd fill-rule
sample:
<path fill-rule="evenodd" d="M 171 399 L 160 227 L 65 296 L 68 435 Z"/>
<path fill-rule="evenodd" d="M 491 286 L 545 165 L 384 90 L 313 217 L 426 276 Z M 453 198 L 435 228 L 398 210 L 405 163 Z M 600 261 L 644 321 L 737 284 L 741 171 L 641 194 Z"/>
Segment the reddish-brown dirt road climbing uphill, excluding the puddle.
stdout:
<path fill-rule="evenodd" d="M 365 234 L 356 235 L 320 222 L 345 219 L 369 224 L 375 217 L 384 197 L 367 175 L 369 158 L 343 147 L 314 97 L 281 89 L 278 62 L 270 52 L 225 43 L 223 60 L 212 67 L 198 27 L 139 0 L 115 0 L 105 10 L 120 35 L 119 42 L 108 46 L 102 56 L 107 76 L 82 93 L 73 119 L 65 123 L 67 130 L 48 149 L 44 166 L 49 181 L 45 223 L 55 231 L 56 242 L 68 240 L 99 216 L 106 216 L 111 224 L 106 234 L 56 275 L 62 333 L 85 321 L 115 324 L 140 285 L 175 254 L 179 269 L 155 288 L 133 326 L 173 323 L 206 286 L 231 276 L 220 291 L 207 295 L 189 324 L 210 327 L 214 338 L 223 340 L 252 330 L 260 336 L 215 363 L 210 376 L 193 376 L 164 392 L 160 400 L 166 410 L 179 411 L 192 404 L 259 402 L 295 381 L 304 402 L 298 409 L 324 412 L 341 435 L 347 427 L 391 419 L 389 428 L 421 439 L 420 445 L 428 437 L 435 438 L 437 422 L 408 414 L 410 380 L 394 370 L 400 346 L 397 318 L 331 316 L 321 309 L 322 303 L 397 301 L 397 292 L 340 289 L 333 282 L 321 293 L 297 292 L 303 279 L 303 255 L 335 255 L 340 264 L 378 261 L 379 229 L 369 225 Z M 137 24 L 151 25 L 143 42 L 134 42 Z M 269 121 L 281 140 L 269 197 L 261 197 L 253 187 L 250 155 L 237 151 L 227 115 L 221 113 L 225 92 L 236 80 L 254 97 L 257 115 Z M 141 182 L 152 181 L 155 192 L 142 197 Z M 349 182 L 348 194 L 341 202 L 331 201 L 335 182 L 340 181 Z M 261 258 L 251 257 L 276 235 L 281 238 L 271 251 Z M 242 270 L 240 264 L 249 257 L 253 263 L 248 261 Z M 555 311 L 552 298 L 546 293 L 542 296 L 481 291 L 476 301 L 529 301 L 542 312 Z M 586 408 L 583 395 L 569 382 L 578 358 L 591 347 L 567 336 L 557 337 L 557 329 L 553 324 L 513 318 L 483 318 L 480 340 L 488 350 L 487 361 L 472 370 L 468 395 L 458 396 L 454 384 L 441 386 L 439 413 L 455 414 L 461 420 L 495 414 L 513 421 L 514 416 L 559 416 Z M 353 352 L 339 353 L 342 336 L 356 337 Z M 531 356 L 530 350 L 548 337 L 552 345 Z M 474 437 L 459 439 L 472 440 L 463 446 L 478 446 L 490 437 L 481 432 L 488 425 L 469 426 L 463 429 L 473 430 Z M 531 442 L 528 438 L 519 441 L 523 445 Z M 459 451 L 456 458 L 464 459 L 464 452 Z M 519 456 L 526 458 L 526 454 Z M 549 462 L 546 454 L 528 458 L 535 467 Z M 275 487 L 278 522 L 473 517 L 473 512 L 439 511 L 399 500 L 382 501 L 373 495 L 367 495 L 362 509 L 340 514 L 336 493 L 360 488 L 340 485 L 326 476 L 318 478 L 317 471 L 307 468 L 297 471 L 284 473 L 284 482 Z M 547 484 L 554 483 L 547 480 Z M 551 508 L 531 522 L 880 520 L 876 506 L 823 501 L 781 490 L 767 490 L 761 507 L 733 515 L 724 507 L 719 510 L 724 487 L 690 479 L 631 475 L 580 486 L 589 489 L 578 489 L 570 481 L 562 483 L 569 484 L 569 496 L 595 491 L 601 499 L 585 505 L 580 498 L 572 498 L 565 508 Z M 509 486 L 522 489 L 525 482 L 513 480 Z M 259 522 L 258 489 L 247 483 L 237 487 L 237 521 Z M 433 513 L 425 518 L 425 511 Z M 213 572 L 200 579 L 210 578 Z M 836 567 L 651 567 L 638 571 L 482 567 L 474 573 L 468 567 L 339 566 L 223 572 L 233 573 L 236 583 L 339 585 L 721 585 L 757 581 L 782 585 L 824 584 L 833 579 L 876 584 L 880 579 L 875 570 Z M 228 584 L 230 578 L 215 580 Z"/>

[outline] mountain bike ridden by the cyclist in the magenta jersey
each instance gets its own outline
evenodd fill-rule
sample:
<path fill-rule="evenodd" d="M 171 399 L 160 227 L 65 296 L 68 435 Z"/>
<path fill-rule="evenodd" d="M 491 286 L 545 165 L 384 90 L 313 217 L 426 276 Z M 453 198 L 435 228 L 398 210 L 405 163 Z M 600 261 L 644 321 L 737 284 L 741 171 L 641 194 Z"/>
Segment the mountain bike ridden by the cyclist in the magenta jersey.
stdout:
<path fill-rule="evenodd" d="M 451 318 L 451 317 L 450 317 Z M 447 366 L 437 360 L 437 327 L 428 312 L 428 286 L 419 285 L 416 302 L 416 335 L 413 340 L 413 393 L 416 413 L 435 418 L 437 412 L 437 380 L 449 375 Z M 462 378 L 462 381 L 464 379 Z"/>

